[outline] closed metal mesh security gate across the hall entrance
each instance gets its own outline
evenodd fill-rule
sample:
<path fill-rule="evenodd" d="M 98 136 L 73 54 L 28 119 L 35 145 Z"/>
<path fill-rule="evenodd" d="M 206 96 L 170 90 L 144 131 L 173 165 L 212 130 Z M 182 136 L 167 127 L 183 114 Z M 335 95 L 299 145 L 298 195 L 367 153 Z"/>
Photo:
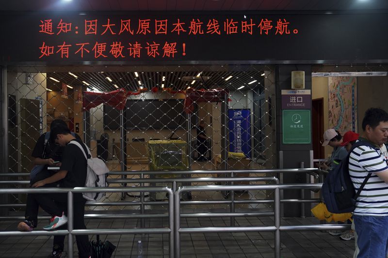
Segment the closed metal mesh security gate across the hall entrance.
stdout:
<path fill-rule="evenodd" d="M 64 120 L 70 130 L 90 146 L 92 155 L 105 160 L 112 171 L 221 169 L 226 156 L 228 169 L 276 167 L 272 67 L 13 67 L 8 68 L 7 81 L 9 172 L 31 171 L 31 152 L 36 140 L 49 131 L 49 125 L 55 119 Z M 228 95 L 224 101 L 219 98 L 194 100 L 189 106 L 192 112 L 187 114 L 185 99 L 190 88 L 200 90 L 199 94 L 214 89 L 226 90 Z M 83 91 L 117 89 L 127 92 L 123 110 L 116 109 L 106 100 L 88 111 L 82 109 Z M 203 129 L 199 130 L 201 121 Z M 226 126 L 228 129 L 224 130 Z M 206 139 L 201 140 L 198 134 Z M 199 184 L 212 183 L 192 183 Z M 242 192 L 238 195 L 245 199 L 265 199 L 267 194 Z M 223 197 L 226 197 L 223 193 L 199 192 L 193 199 L 218 200 Z M 24 201 L 19 198 L 22 197 L 14 196 L 12 202 Z M 138 198 L 136 193 L 109 194 L 106 201 Z M 163 199 L 164 196 L 149 195 L 149 198 Z M 256 207 L 259 205 L 241 205 L 241 208 Z M 138 206 L 106 206 L 103 209 L 138 209 Z"/>

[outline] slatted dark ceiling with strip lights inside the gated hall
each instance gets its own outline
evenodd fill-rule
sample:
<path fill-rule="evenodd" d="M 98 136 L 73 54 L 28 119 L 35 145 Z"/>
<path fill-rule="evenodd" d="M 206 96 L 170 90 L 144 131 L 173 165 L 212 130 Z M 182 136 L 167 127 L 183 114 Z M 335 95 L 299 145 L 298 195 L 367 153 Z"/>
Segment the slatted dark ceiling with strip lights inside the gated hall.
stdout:
<path fill-rule="evenodd" d="M 140 87 L 148 90 L 151 90 L 152 87 L 161 89 L 162 84 L 164 88 L 171 88 L 173 90 L 185 90 L 187 87 L 194 89 L 222 88 L 237 90 L 242 86 L 244 86 L 244 90 L 247 90 L 256 89 L 264 85 L 264 72 L 262 71 L 201 71 L 201 76 L 198 76 L 200 71 L 196 69 L 195 71 L 194 69 L 188 70 L 190 71 L 138 72 L 138 77 L 135 76 L 134 72 L 72 72 L 77 78 L 68 72 L 50 72 L 47 73 L 47 88 L 59 91 L 62 88 L 62 83 L 70 86 L 81 85 L 86 87 L 83 81 L 90 84 L 89 88 L 93 87 L 97 91 L 113 91 L 118 88 L 124 88 L 127 91 L 137 91 Z M 226 81 L 226 78 L 229 76 L 232 77 Z M 56 82 L 50 79 L 50 77 L 60 82 Z M 139 81 L 141 84 L 139 84 Z M 192 84 L 193 81 L 195 82 Z M 248 84 L 252 81 L 255 82 Z"/>

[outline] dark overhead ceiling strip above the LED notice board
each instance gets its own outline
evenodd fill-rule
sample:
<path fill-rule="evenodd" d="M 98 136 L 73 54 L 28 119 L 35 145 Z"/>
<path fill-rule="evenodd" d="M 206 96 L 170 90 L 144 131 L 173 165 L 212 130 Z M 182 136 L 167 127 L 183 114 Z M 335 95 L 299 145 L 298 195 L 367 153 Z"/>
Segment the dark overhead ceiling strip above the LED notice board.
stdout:
<path fill-rule="evenodd" d="M 14 0 L 0 11 L 347 11 L 387 10 L 388 0 Z"/>

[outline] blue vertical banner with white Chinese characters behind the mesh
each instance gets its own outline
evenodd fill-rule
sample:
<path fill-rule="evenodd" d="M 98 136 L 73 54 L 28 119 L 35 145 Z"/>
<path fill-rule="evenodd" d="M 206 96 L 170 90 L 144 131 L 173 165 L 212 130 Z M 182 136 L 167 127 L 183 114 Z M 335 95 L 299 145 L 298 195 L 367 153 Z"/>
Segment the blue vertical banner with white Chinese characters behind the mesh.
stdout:
<path fill-rule="evenodd" d="M 229 152 L 242 152 L 251 158 L 251 111 L 229 109 Z"/>

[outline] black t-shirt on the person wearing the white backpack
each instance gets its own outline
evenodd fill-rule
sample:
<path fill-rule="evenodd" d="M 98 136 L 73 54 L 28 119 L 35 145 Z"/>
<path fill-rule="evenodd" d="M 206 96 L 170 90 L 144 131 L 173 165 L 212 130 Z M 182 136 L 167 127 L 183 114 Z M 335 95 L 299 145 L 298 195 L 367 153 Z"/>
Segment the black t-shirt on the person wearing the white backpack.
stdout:
<path fill-rule="evenodd" d="M 73 139 L 81 145 L 79 139 Z M 86 181 L 87 161 L 80 147 L 75 144 L 67 144 L 63 156 L 61 170 L 67 170 L 66 177 L 60 182 L 61 187 L 84 187 Z"/>

